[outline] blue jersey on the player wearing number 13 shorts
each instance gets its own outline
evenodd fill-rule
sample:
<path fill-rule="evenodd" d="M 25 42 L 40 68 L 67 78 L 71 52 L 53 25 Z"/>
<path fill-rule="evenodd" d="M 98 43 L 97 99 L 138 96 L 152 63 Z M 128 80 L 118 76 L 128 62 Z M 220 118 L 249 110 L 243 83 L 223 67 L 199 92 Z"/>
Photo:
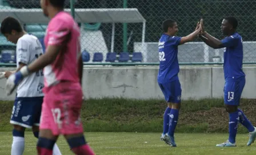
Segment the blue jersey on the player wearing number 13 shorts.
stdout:
<path fill-rule="evenodd" d="M 242 36 L 237 32 L 221 40 L 224 49 L 224 76 L 225 80 L 238 79 L 245 76 L 243 65 Z"/>

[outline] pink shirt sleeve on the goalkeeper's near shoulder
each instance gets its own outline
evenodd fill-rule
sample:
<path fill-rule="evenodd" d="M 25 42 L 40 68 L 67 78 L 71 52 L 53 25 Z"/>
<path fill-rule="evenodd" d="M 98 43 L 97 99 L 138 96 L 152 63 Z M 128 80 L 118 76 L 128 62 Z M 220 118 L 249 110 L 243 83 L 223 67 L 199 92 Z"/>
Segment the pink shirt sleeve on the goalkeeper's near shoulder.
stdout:
<path fill-rule="evenodd" d="M 48 45 L 62 45 L 68 39 L 70 28 L 63 19 L 55 19 L 49 26 Z"/>

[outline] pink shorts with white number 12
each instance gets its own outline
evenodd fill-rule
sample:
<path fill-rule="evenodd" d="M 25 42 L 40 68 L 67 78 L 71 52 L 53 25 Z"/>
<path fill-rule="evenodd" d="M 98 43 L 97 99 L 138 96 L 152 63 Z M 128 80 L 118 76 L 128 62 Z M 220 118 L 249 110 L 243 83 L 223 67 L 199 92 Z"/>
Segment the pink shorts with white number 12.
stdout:
<path fill-rule="evenodd" d="M 81 85 L 65 81 L 45 88 L 44 93 L 39 128 L 54 135 L 83 133 Z"/>

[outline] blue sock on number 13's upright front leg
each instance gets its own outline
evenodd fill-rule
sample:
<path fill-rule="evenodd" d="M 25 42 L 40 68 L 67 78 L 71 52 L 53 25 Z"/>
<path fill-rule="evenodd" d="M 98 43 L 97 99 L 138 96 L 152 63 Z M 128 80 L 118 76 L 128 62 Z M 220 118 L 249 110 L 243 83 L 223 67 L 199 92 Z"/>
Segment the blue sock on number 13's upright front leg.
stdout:
<path fill-rule="evenodd" d="M 235 143 L 235 136 L 237 136 L 239 116 L 238 112 L 229 114 L 229 142 Z"/>

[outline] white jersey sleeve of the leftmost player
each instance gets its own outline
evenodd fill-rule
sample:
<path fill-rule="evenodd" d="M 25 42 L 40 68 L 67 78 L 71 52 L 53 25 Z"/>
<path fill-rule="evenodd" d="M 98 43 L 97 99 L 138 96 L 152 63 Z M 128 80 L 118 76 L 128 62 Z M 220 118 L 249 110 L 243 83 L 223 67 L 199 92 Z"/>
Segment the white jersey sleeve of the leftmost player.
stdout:
<path fill-rule="evenodd" d="M 29 64 L 29 43 L 25 40 L 18 40 L 16 55 L 18 63 Z"/>

